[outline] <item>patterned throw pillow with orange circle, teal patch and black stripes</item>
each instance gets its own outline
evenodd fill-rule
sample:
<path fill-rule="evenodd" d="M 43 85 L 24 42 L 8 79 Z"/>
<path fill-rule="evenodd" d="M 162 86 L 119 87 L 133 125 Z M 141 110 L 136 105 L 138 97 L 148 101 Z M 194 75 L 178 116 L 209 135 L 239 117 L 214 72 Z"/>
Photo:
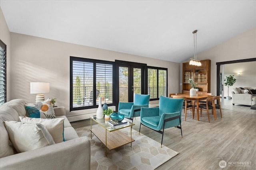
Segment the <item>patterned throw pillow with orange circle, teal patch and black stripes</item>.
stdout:
<path fill-rule="evenodd" d="M 28 113 L 28 117 L 48 119 L 56 118 L 50 99 L 36 104 L 25 104 L 25 109 Z"/>

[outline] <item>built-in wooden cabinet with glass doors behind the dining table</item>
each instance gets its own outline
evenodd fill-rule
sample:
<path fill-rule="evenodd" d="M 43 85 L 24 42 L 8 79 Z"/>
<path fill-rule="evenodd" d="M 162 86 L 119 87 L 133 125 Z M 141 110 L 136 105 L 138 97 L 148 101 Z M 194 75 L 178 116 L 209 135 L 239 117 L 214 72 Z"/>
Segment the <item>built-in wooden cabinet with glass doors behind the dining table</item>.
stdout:
<path fill-rule="evenodd" d="M 182 63 L 182 92 L 187 93 L 191 89 L 188 80 L 191 78 L 197 82 L 200 92 L 211 90 L 211 61 L 201 60 L 202 66 L 193 66 Z"/>

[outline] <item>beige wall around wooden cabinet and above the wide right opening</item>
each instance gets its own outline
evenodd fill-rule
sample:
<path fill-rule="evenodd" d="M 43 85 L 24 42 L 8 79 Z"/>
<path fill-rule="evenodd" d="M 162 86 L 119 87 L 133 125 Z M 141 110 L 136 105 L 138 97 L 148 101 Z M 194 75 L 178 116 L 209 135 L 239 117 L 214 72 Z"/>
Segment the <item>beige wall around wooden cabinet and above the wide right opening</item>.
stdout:
<path fill-rule="evenodd" d="M 198 60 L 211 60 L 211 92 L 214 95 L 217 94 L 216 63 L 251 58 L 256 58 L 256 27 L 197 55 Z M 180 66 L 182 70 L 182 63 Z M 182 72 L 180 82 L 182 82 Z"/>

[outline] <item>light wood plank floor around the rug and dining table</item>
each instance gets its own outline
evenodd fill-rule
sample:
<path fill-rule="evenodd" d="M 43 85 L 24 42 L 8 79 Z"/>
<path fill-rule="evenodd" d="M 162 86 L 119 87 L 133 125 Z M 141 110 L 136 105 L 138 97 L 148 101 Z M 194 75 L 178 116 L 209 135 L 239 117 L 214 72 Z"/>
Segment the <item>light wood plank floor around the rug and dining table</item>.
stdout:
<path fill-rule="evenodd" d="M 133 129 L 139 131 L 139 117 Z M 71 123 L 74 128 L 90 125 L 90 120 Z M 141 133 L 161 143 L 162 135 L 147 127 L 141 127 Z M 217 109 L 217 120 L 210 114 L 210 123 L 206 111 L 200 121 L 192 119 L 190 111 L 184 121 L 182 113 L 182 133 L 180 129 L 169 128 L 164 131 L 163 145 L 179 152 L 174 158 L 158 167 L 158 170 L 218 170 L 220 160 L 228 164 L 251 162 L 250 166 L 226 166 L 226 169 L 256 170 L 256 110 L 248 106 L 233 106 L 225 103 L 222 118 Z"/>

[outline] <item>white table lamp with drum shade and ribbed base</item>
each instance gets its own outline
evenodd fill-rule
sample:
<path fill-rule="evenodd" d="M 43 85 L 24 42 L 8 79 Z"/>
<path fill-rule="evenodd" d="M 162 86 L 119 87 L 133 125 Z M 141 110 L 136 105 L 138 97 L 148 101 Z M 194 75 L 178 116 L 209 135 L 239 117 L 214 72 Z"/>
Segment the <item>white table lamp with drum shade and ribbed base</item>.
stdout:
<path fill-rule="evenodd" d="M 30 82 L 30 94 L 37 94 L 36 103 L 44 102 L 44 94 L 42 93 L 50 93 L 49 82 Z"/>

